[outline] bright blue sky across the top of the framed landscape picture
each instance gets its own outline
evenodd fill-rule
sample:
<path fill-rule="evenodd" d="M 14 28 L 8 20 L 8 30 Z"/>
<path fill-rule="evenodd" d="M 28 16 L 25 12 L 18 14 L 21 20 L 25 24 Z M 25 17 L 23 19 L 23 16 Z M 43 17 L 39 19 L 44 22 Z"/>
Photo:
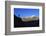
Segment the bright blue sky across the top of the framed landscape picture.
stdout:
<path fill-rule="evenodd" d="M 14 15 L 17 17 L 25 17 L 25 16 L 39 16 L 39 9 L 29 9 L 29 8 L 14 8 Z"/>

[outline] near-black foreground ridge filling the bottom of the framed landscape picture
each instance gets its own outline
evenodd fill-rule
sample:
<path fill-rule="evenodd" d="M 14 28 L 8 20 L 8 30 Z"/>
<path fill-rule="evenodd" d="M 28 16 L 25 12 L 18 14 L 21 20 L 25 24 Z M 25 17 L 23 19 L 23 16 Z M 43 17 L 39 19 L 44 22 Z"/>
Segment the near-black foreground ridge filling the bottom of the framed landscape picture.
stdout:
<path fill-rule="evenodd" d="M 39 20 L 23 22 L 21 18 L 14 15 L 14 28 L 16 27 L 39 27 Z"/>

